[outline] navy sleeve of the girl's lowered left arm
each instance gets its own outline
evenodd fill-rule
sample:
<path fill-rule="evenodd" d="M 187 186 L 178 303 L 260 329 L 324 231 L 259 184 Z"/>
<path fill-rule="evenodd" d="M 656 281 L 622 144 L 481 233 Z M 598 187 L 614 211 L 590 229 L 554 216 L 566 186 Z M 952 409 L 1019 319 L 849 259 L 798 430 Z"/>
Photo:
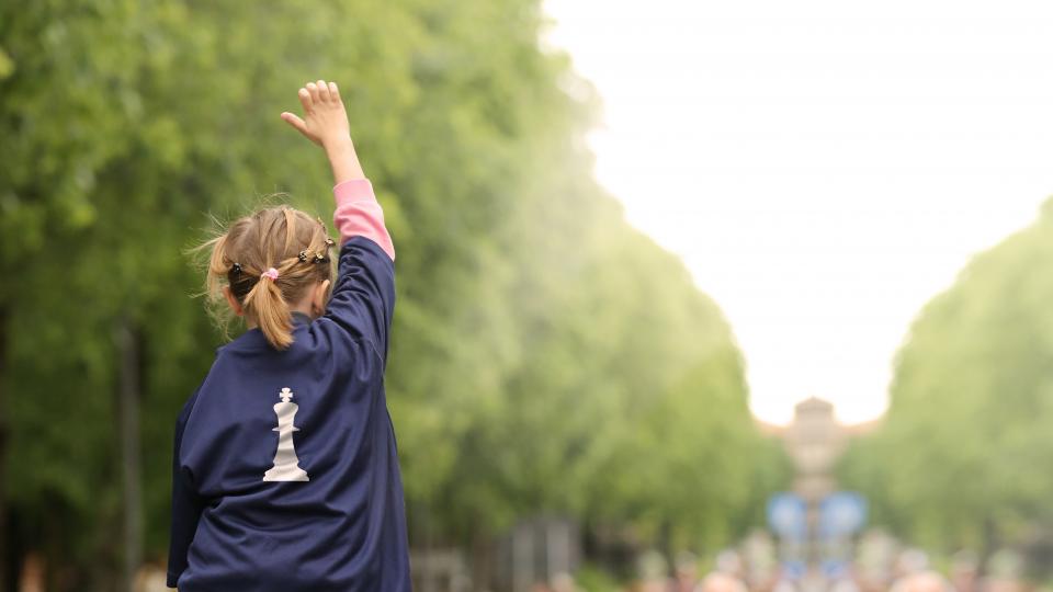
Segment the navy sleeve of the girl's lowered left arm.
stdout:
<path fill-rule="evenodd" d="M 194 490 L 191 476 L 182 468 L 179 448 L 183 441 L 186 419 L 193 409 L 197 392 L 186 401 L 176 423 L 176 447 L 172 452 L 172 526 L 168 547 L 168 587 L 177 588 L 179 577 L 186 569 L 186 553 L 197 531 L 197 522 L 204 508 Z"/>

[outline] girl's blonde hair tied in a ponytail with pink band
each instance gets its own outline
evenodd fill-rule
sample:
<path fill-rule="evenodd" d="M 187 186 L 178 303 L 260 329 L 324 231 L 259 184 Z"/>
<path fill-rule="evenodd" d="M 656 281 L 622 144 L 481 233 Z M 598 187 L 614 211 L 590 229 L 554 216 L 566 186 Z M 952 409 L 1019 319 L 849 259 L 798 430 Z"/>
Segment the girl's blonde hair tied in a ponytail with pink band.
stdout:
<path fill-rule="evenodd" d="M 299 301 L 318 282 L 331 280 L 333 242 L 318 218 L 287 206 L 268 207 L 231 223 L 194 251 L 208 252 L 205 296 L 218 319 L 229 318 L 223 287 L 241 304 L 276 350 L 293 343 L 290 303 Z M 274 267 L 278 277 L 264 278 Z M 225 316 L 226 315 L 226 316 Z"/>

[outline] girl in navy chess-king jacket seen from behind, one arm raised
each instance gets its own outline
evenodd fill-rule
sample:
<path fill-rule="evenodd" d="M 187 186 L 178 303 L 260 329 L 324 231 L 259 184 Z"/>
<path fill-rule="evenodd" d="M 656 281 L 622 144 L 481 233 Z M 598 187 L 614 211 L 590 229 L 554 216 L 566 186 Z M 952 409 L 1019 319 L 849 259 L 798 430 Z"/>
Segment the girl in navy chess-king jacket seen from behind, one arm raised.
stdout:
<path fill-rule="evenodd" d="M 182 591 L 410 590 L 384 395 L 395 250 L 337 86 L 299 101 L 304 118 L 282 118 L 332 166 L 338 273 L 325 226 L 288 207 L 204 246 L 211 296 L 249 330 L 176 426 L 168 585 Z"/>

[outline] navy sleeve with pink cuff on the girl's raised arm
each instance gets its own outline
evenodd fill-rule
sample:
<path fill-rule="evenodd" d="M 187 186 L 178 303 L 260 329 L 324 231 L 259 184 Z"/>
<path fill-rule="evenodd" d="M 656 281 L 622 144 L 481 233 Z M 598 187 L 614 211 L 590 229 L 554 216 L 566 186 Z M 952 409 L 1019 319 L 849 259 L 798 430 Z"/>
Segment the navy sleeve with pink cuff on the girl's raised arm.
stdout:
<path fill-rule="evenodd" d="M 340 183 L 333 195 L 341 248 L 326 316 L 385 356 L 395 309 L 395 247 L 384 212 L 366 179 Z"/>

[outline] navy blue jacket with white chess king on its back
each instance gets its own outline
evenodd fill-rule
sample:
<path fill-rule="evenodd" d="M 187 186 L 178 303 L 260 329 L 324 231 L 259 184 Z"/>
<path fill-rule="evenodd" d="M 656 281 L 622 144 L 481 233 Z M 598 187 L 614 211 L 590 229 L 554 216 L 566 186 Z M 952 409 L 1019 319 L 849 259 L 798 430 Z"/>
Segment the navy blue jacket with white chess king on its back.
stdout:
<path fill-rule="evenodd" d="M 392 258 L 351 237 L 325 316 L 296 315 L 288 350 L 272 349 L 259 329 L 219 348 L 176 429 L 169 587 L 410 590 L 384 394 L 394 305 Z M 297 431 L 284 430 L 298 468 L 288 466 L 306 480 L 264 479 L 281 464 L 282 406 L 295 408 L 287 423 Z"/>

